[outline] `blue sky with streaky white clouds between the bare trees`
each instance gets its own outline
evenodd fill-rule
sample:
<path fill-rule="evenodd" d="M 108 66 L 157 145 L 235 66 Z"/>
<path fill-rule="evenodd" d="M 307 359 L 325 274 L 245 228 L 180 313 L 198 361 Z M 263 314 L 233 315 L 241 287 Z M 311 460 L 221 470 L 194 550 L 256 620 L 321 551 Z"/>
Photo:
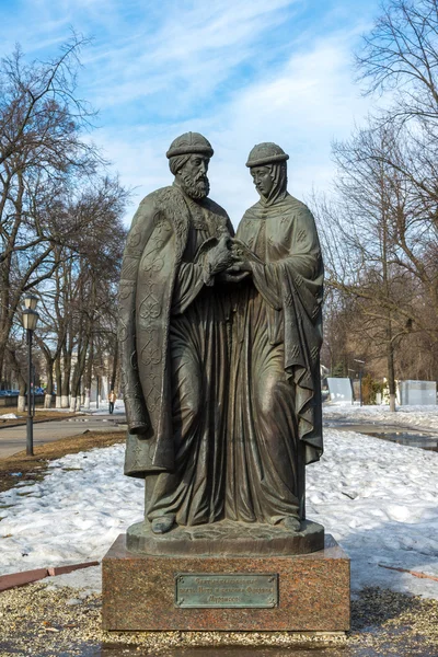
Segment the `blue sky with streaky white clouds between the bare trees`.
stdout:
<path fill-rule="evenodd" d="M 373 107 L 351 53 L 377 0 L 0 0 L 0 54 L 56 54 L 70 28 L 93 37 L 79 94 L 100 111 L 93 140 L 140 198 L 172 176 L 165 151 L 186 130 L 211 141 L 211 197 L 237 224 L 256 200 L 254 143 L 289 154 L 289 191 L 330 189 L 331 142 Z"/>

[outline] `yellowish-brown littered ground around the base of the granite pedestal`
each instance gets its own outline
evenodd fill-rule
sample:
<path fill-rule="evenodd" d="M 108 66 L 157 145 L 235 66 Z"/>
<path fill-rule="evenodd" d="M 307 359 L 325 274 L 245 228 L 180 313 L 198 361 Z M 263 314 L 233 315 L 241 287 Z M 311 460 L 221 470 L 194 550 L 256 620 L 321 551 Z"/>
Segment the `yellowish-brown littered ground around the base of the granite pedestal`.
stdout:
<path fill-rule="evenodd" d="M 50 584 L 47 579 L 0 593 L 0 657 L 438 655 L 438 601 L 376 588 L 362 591 L 354 603 L 353 631 L 343 637 L 257 631 L 110 633 L 102 631 L 101 595 L 67 588 L 54 590 Z"/>

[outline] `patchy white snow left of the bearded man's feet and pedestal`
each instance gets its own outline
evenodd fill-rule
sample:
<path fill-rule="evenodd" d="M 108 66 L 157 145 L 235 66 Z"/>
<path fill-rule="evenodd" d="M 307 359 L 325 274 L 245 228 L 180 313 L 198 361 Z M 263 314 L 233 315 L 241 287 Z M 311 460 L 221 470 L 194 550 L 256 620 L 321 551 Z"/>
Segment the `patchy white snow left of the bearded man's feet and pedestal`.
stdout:
<path fill-rule="evenodd" d="M 0 574 L 101 560 L 143 515 L 143 482 L 124 476 L 124 454 L 123 445 L 69 454 L 0 494 Z"/>

